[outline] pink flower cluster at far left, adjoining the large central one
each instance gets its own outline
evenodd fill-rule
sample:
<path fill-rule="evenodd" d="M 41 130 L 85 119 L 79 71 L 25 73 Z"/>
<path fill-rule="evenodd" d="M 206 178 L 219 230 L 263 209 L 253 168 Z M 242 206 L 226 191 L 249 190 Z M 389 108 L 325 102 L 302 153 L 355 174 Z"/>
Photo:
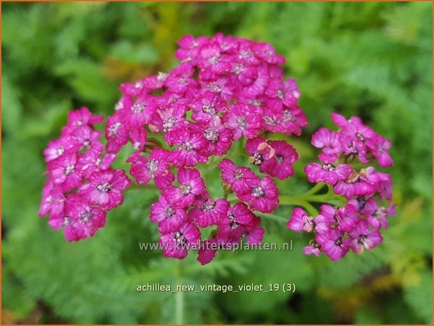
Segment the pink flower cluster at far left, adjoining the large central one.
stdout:
<path fill-rule="evenodd" d="M 39 215 L 49 215 L 53 229 L 63 229 L 68 241 L 93 236 L 105 225 L 105 215 L 124 201 L 129 186 L 123 170 L 110 168 L 115 154 L 105 154 L 102 133 L 93 125 L 104 120 L 82 107 L 70 111 L 57 140 L 44 150 L 48 179 Z"/>

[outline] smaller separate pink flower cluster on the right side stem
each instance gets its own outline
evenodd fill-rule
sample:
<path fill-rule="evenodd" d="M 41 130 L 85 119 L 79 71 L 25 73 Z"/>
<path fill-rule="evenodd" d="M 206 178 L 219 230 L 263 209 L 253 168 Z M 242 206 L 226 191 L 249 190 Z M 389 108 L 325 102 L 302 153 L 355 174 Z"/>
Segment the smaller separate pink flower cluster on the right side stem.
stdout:
<path fill-rule="evenodd" d="M 360 118 L 331 116 L 341 129 L 336 132 L 320 128 L 313 135 L 312 144 L 322 149 L 318 156 L 322 163 L 309 163 L 305 173 L 310 182 L 333 186 L 334 193 L 345 197 L 347 203 L 341 208 L 324 204 L 315 217 L 295 208 L 287 226 L 293 231 L 315 233 L 315 240 L 303 248 L 305 254 L 320 256 L 322 251 L 338 260 L 350 248 L 360 254 L 381 243 L 381 229 L 387 228 L 387 217 L 395 215 L 390 175 L 372 166 L 357 172 L 351 165 L 340 162 L 357 156 L 362 163 L 376 159 L 381 167 L 386 167 L 393 161 L 387 152 L 390 141 L 363 125 Z"/>

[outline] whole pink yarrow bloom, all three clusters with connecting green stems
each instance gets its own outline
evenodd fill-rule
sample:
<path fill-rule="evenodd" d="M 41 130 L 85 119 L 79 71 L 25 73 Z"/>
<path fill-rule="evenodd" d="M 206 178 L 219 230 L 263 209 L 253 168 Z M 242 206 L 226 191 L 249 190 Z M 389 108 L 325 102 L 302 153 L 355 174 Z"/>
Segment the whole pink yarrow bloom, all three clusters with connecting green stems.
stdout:
<path fill-rule="evenodd" d="M 112 168 L 121 148 L 131 143 L 129 175 L 138 186 L 153 181 L 159 191 L 150 221 L 158 224 L 166 257 L 183 259 L 197 250 L 197 260 L 207 264 L 218 246 L 243 238 L 261 243 L 265 230 L 256 212 L 266 218 L 280 204 L 301 206 L 294 208 L 289 229 L 315 233 L 305 254 L 322 251 L 337 260 L 350 247 L 360 253 L 381 243 L 380 230 L 394 210 L 390 175 L 374 167 L 356 171 L 350 162 L 392 165 L 390 141 L 360 118 L 332 114 L 339 130 L 320 128 L 313 135 L 313 146 L 322 149 L 321 163 L 305 167 L 317 186 L 298 201 L 280 196 L 275 179 L 291 177 L 299 157 L 287 136 L 301 135 L 308 125 L 298 107 L 296 81 L 284 79 L 284 57 L 268 43 L 223 34 L 184 36 L 178 45 L 180 64 L 170 72 L 121 84 L 105 133 L 95 128 L 103 116 L 83 107 L 70 111 L 60 137 L 48 143 L 39 215 L 48 215 L 53 229 L 76 241 L 105 225 L 107 212 L 123 203 L 122 191 L 131 184 L 124 170 Z M 285 140 L 270 140 L 271 134 Z M 235 143 L 245 154 L 244 165 L 228 156 Z M 220 198 L 207 189 L 204 165 L 221 172 Z M 317 194 L 325 184 L 334 193 Z M 330 196 L 347 202 L 327 205 Z M 309 202 L 319 198 L 325 204 L 316 214 Z"/>

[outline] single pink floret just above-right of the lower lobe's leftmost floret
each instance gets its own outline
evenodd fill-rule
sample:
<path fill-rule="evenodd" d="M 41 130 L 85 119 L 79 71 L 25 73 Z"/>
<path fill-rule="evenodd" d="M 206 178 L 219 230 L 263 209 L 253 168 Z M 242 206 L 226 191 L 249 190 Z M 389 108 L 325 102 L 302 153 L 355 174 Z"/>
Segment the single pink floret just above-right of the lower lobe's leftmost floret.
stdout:
<path fill-rule="evenodd" d="M 163 196 L 168 203 L 177 208 L 188 208 L 195 201 L 195 196 L 206 191 L 199 170 L 180 168 L 176 179 L 179 186 L 167 186 L 163 190 Z"/>

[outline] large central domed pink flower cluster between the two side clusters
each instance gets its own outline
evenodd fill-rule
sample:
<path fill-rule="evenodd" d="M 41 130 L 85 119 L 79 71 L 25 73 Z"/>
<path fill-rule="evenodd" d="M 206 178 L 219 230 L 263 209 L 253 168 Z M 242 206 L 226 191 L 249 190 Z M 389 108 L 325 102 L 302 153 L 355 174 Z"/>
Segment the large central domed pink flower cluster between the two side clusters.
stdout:
<path fill-rule="evenodd" d="M 164 254 L 182 259 L 197 243 L 237 243 L 242 236 L 249 243 L 261 242 L 264 230 L 252 211 L 277 208 L 279 191 L 272 177 L 292 175 L 298 159 L 287 142 L 266 142 L 261 135 L 300 135 L 308 123 L 297 106 L 296 81 L 283 79 L 279 64 L 284 57 L 268 43 L 216 34 L 184 36 L 178 45 L 180 64 L 170 72 L 121 85 L 123 95 L 105 135 L 109 153 L 129 141 L 136 149 L 128 159 L 131 175 L 137 184 L 153 179 L 162 191 L 150 220 L 159 226 Z M 165 144 L 145 148 L 151 133 L 161 134 Z M 195 167 L 211 156 L 224 156 L 244 138 L 251 163 L 267 176 L 261 179 L 250 168 L 223 159 L 218 166 L 226 195 L 235 191 L 241 202 L 211 198 Z M 142 154 L 149 150 L 149 156 Z M 199 228 L 207 226 L 216 231 L 202 240 Z M 215 254 L 202 247 L 199 262 L 206 264 Z"/>

